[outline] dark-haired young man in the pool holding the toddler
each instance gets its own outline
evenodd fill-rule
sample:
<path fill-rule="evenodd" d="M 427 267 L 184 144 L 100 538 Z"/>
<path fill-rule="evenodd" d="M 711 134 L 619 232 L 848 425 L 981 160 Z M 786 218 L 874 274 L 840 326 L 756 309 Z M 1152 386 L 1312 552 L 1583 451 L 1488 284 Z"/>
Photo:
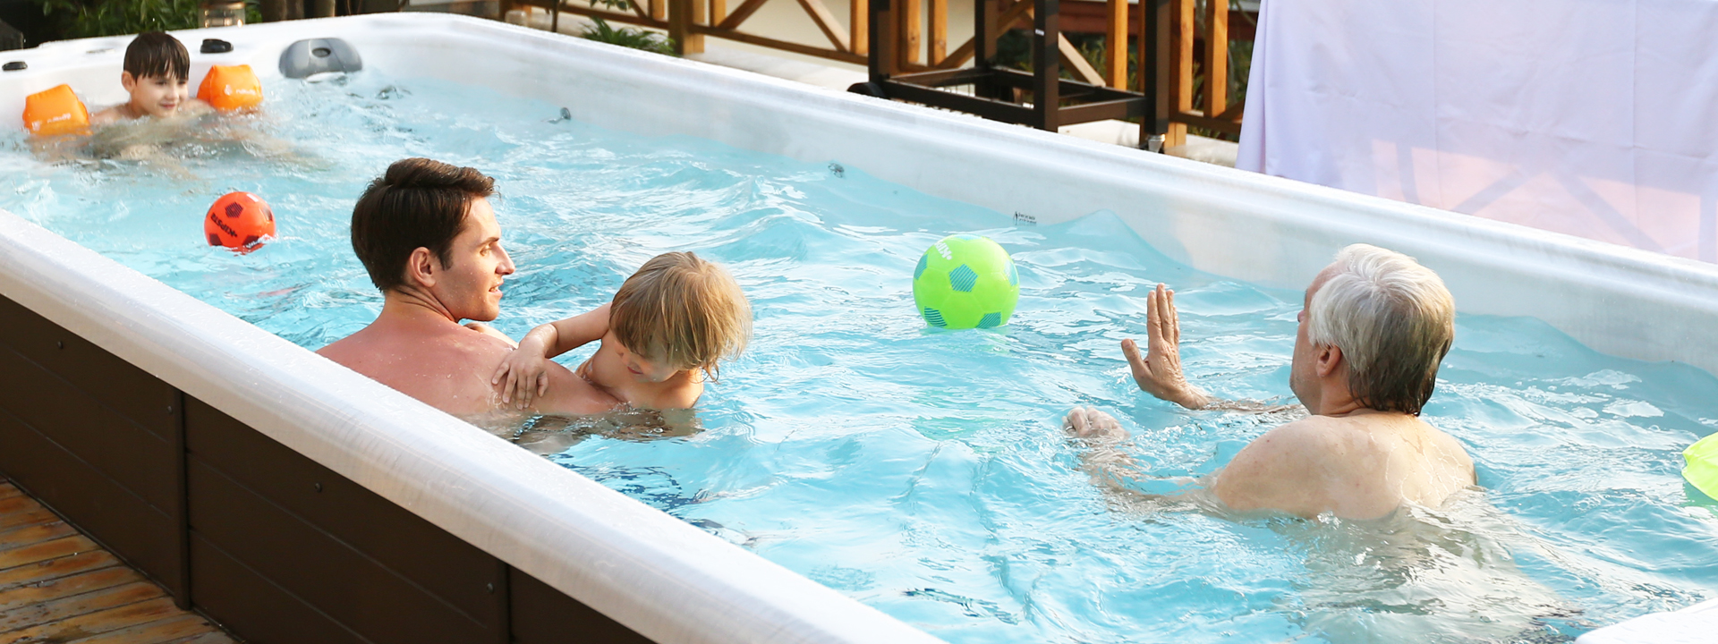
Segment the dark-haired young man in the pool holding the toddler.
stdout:
<path fill-rule="evenodd" d="M 395 161 L 373 180 L 352 208 L 352 251 L 381 289 L 381 314 L 318 354 L 454 416 L 498 412 L 490 374 L 514 343 L 460 325 L 495 319 L 514 273 L 488 201 L 493 185 L 474 168 L 426 158 Z M 600 414 L 620 404 L 560 364 L 545 378 L 545 395 L 505 414 Z"/>

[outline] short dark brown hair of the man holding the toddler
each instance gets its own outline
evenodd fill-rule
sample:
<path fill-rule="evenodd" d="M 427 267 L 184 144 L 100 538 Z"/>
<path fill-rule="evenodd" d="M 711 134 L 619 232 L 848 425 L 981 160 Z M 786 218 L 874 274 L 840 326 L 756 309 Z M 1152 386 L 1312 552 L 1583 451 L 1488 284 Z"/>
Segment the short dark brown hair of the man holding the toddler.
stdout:
<path fill-rule="evenodd" d="M 442 268 L 448 266 L 466 211 L 491 194 L 495 179 L 476 168 L 428 158 L 393 161 L 352 206 L 352 252 L 376 289 L 399 289 L 416 249 L 430 249 Z"/>

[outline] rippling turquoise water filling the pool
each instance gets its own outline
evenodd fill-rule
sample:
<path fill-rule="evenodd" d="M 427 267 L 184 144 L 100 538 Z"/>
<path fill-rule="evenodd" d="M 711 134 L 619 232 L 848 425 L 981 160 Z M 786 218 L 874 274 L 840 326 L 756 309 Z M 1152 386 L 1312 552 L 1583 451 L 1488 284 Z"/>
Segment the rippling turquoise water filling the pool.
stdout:
<path fill-rule="evenodd" d="M 139 161 L 43 165 L 3 139 L 0 208 L 304 347 L 356 331 L 380 295 L 350 252 L 364 184 L 402 156 L 478 167 L 519 264 L 497 326 L 605 302 L 644 259 L 725 263 L 756 309 L 751 350 L 703 431 L 594 436 L 550 459 L 950 642 L 1567 641 L 1718 596 L 1718 512 L 1680 450 L 1718 428 L 1718 380 L 1598 355 L 1534 319 L 1459 318 L 1426 417 L 1484 489 L 1376 522 L 1230 520 L 1106 496 L 1060 434 L 1074 405 L 1122 417 L 1153 477 L 1203 476 L 1282 417 L 1185 412 L 1141 393 L 1120 338 L 1179 290 L 1191 378 L 1287 400 L 1301 295 L 1177 264 L 1113 215 L 1015 227 L 864 168 L 691 137 L 423 79 L 270 88 L 242 124 L 289 143 L 204 141 Z M 273 204 L 282 239 L 203 246 L 227 191 Z M 929 331 L 911 273 L 936 239 L 1007 247 L 1022 297 L 995 331 Z M 574 352 L 574 362 L 589 349 Z"/>

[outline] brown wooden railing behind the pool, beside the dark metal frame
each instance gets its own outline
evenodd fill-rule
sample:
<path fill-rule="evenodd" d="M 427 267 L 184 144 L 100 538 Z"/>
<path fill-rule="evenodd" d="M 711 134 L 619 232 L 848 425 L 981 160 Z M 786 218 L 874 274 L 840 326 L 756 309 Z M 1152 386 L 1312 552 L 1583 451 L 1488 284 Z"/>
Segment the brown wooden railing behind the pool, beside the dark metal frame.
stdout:
<path fill-rule="evenodd" d="M 679 53 L 701 53 L 704 38 L 722 38 L 759 45 L 782 52 L 819 57 L 854 65 L 864 65 L 869 55 L 869 0 L 850 0 L 845 24 L 823 0 L 620 0 L 617 10 L 605 0 L 510 0 L 509 5 L 536 5 L 555 12 L 601 17 L 605 21 L 663 29 L 673 39 Z M 783 34 L 747 31 L 747 21 L 766 2 L 795 2 L 806 17 L 816 24 L 826 39 L 806 45 L 783 39 Z M 921 72 L 959 69 L 972 62 L 974 39 L 948 46 L 948 0 L 892 0 L 897 3 L 893 29 L 881 29 L 895 46 L 893 72 Z M 991 2 L 991 36 L 1008 29 L 1033 27 L 1033 0 L 974 0 Z M 1103 27 L 1103 57 L 1087 60 L 1067 38 L 1060 38 L 1062 69 L 1075 81 L 1118 89 L 1154 89 L 1156 127 L 1163 146 L 1185 143 L 1187 129 L 1197 127 L 1216 134 L 1239 136 L 1242 105 L 1230 105 L 1228 94 L 1228 43 L 1232 10 L 1228 0 L 1063 0 L 1065 17 L 1077 24 Z M 1101 7 L 1101 9 L 1098 9 Z M 1141 10 L 1151 7 L 1154 10 Z M 1093 21 L 1094 15 L 1098 21 Z M 1067 22 L 1065 22 L 1067 24 Z M 1244 38 L 1251 39 L 1251 24 Z M 1129 34 L 1144 29 L 1149 38 L 1146 64 L 1134 65 L 1129 76 Z M 1203 76 L 1204 82 L 1196 82 Z M 1197 86 L 1197 100 L 1196 89 Z M 1201 108 L 1194 108 L 1194 105 Z M 1215 110 L 1209 106 L 1216 106 Z"/>

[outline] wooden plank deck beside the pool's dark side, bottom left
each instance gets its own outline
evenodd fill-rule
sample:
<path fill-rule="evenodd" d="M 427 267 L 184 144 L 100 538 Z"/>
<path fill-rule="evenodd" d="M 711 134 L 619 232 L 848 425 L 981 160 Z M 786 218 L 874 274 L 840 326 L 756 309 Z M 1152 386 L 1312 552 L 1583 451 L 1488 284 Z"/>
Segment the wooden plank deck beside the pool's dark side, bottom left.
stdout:
<path fill-rule="evenodd" d="M 232 637 L 0 479 L 0 644 L 230 644 Z"/>

